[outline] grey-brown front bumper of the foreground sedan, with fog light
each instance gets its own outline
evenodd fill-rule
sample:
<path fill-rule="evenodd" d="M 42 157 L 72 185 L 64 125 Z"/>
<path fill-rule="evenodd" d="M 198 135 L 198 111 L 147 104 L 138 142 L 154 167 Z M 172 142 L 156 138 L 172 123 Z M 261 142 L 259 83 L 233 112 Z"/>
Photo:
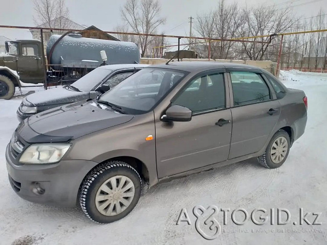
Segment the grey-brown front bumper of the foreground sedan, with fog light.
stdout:
<path fill-rule="evenodd" d="M 16 165 L 11 158 L 8 144 L 6 163 L 13 190 L 27 201 L 56 206 L 75 206 L 82 180 L 98 164 L 66 160 L 54 164 Z"/>

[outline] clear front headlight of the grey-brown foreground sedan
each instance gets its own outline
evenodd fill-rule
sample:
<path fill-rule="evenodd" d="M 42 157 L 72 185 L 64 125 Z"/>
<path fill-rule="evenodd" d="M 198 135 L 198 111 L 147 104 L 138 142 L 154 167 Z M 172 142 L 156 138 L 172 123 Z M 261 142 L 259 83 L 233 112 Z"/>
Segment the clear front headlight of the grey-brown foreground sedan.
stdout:
<path fill-rule="evenodd" d="M 71 144 L 67 143 L 32 144 L 23 152 L 19 162 L 27 164 L 57 163 L 70 146 Z"/>

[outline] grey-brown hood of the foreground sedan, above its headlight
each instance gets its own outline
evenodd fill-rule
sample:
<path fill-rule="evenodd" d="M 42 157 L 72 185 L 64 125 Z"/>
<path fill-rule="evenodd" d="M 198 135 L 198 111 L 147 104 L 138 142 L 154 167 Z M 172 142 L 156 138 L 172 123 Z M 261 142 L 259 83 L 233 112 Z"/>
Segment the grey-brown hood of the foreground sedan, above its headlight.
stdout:
<path fill-rule="evenodd" d="M 111 109 L 101 109 L 92 101 L 77 102 L 24 120 L 22 124 L 27 124 L 30 129 L 21 129 L 20 136 L 29 143 L 66 142 L 128 122 L 133 117 Z"/>

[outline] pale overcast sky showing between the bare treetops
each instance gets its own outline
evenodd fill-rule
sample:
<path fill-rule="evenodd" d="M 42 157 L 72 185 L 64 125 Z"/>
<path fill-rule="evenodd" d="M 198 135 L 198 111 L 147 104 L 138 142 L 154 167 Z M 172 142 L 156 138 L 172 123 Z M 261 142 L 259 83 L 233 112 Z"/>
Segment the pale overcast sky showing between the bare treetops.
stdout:
<path fill-rule="evenodd" d="M 227 0 L 227 2 L 232 0 Z M 77 3 L 78 2 L 78 3 Z M 81 25 L 95 25 L 105 31 L 114 31 L 121 23 L 120 8 L 125 0 L 66 0 L 70 19 Z M 166 24 L 161 31 L 170 35 L 189 34 L 188 18 L 208 12 L 217 6 L 217 0 L 160 0 L 162 16 Z M 240 5 L 279 4 L 278 7 L 293 6 L 293 11 L 303 18 L 316 16 L 319 9 L 327 13 L 327 0 L 238 0 Z M 299 5 L 299 6 L 297 6 Z M 35 26 L 32 0 L 0 0 L 0 24 Z M 196 20 L 195 20 L 196 21 Z M 10 39 L 30 39 L 28 30 L 0 28 L 0 36 Z"/>

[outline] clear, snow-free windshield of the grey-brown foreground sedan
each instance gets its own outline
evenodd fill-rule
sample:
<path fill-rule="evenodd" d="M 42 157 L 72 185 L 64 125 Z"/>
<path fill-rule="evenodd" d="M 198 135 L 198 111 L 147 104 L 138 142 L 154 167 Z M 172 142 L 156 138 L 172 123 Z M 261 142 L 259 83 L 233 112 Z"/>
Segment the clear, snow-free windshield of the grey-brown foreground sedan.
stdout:
<path fill-rule="evenodd" d="M 128 114 L 146 113 L 181 81 L 186 72 L 144 68 L 103 94 L 101 101 L 121 107 Z"/>

